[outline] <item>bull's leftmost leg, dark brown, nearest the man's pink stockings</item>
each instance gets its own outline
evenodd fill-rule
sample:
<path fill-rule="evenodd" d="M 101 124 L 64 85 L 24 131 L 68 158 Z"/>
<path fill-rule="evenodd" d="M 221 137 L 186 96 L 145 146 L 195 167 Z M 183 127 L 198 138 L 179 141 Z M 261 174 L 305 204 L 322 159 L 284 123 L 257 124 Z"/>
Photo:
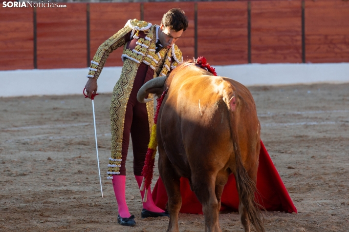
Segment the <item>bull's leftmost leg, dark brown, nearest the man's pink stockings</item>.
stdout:
<path fill-rule="evenodd" d="M 167 232 L 179 232 L 178 213 L 182 206 L 182 196 L 180 195 L 180 176 L 175 173 L 170 160 L 159 143 L 159 174 L 165 185 L 168 196 L 168 210 L 170 222 Z"/>

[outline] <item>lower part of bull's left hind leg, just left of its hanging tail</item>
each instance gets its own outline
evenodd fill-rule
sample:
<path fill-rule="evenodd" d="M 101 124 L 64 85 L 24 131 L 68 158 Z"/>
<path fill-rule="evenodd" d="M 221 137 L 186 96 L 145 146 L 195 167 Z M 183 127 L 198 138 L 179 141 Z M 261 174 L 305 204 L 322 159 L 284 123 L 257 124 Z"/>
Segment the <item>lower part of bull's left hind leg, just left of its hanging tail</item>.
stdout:
<path fill-rule="evenodd" d="M 218 205 L 220 205 L 220 202 L 218 204 L 216 196 L 216 177 L 210 174 L 198 173 L 197 176 L 192 178 L 192 181 L 197 199 L 202 204 L 205 232 L 221 232 L 218 220 Z"/>

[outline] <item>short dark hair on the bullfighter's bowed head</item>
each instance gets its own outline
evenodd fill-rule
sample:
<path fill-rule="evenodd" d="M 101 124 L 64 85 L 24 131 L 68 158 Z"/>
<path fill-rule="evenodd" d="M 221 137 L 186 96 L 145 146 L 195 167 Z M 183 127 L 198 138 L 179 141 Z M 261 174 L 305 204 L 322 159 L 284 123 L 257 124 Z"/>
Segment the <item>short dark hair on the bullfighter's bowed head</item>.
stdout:
<path fill-rule="evenodd" d="M 169 10 L 162 17 L 161 24 L 164 27 L 170 27 L 170 29 L 178 32 L 183 29 L 185 31 L 188 27 L 188 18 L 184 15 L 184 11 L 179 8 L 173 8 Z"/>

